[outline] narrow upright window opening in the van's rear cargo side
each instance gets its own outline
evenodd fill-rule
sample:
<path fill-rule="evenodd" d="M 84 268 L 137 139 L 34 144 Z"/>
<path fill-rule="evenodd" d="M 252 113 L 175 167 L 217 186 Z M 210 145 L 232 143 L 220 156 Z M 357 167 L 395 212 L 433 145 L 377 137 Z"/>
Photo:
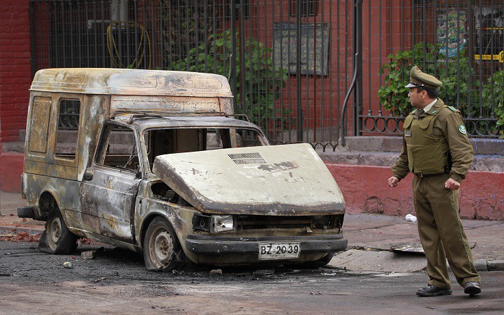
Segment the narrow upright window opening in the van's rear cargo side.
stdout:
<path fill-rule="evenodd" d="M 80 100 L 60 99 L 58 131 L 54 155 L 60 159 L 75 159 L 79 135 Z"/>

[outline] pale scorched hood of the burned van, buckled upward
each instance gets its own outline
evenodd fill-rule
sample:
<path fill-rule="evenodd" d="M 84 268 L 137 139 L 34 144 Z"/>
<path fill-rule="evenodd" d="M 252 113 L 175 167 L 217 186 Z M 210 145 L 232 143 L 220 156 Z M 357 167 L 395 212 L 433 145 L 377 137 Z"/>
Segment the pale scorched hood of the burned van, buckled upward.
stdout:
<path fill-rule="evenodd" d="M 157 156 L 153 172 L 203 212 L 344 213 L 333 175 L 308 143 Z"/>

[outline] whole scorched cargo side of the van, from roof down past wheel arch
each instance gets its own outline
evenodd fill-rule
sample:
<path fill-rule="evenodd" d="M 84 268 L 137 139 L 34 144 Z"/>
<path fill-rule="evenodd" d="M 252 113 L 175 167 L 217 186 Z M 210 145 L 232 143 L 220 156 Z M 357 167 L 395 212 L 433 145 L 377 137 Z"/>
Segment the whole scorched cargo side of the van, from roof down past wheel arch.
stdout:
<path fill-rule="evenodd" d="M 61 99 L 80 100 L 78 130 L 59 130 L 58 108 Z M 49 192 L 58 202 L 64 218 L 67 211 L 80 211 L 79 185 L 86 167 L 91 164 L 108 108 L 109 95 L 84 95 L 74 93 L 43 93 L 32 91 L 29 103 L 28 124 L 23 174 L 23 193 L 26 200 L 36 207 L 39 198 Z M 67 138 L 67 139 L 64 139 Z M 73 159 L 56 156 L 56 145 L 71 138 Z M 45 218 L 47 213 L 40 213 Z M 75 222 L 75 220 L 67 221 Z M 71 226 L 71 224 L 69 224 Z"/>

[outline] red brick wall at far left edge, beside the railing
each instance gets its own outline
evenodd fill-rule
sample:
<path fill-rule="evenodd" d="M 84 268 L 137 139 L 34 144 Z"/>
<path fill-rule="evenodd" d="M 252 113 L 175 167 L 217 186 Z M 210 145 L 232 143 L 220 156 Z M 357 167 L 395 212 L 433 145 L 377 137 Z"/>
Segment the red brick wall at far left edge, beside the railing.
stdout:
<path fill-rule="evenodd" d="M 0 189 L 20 191 L 23 154 L 5 153 L 26 128 L 30 67 L 29 1 L 0 1 Z"/>

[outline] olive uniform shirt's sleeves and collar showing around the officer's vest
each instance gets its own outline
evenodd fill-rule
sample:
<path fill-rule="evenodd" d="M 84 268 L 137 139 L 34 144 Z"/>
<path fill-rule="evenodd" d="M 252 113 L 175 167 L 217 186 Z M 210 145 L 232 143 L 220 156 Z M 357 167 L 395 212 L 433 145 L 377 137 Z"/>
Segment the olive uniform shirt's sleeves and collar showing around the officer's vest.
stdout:
<path fill-rule="evenodd" d="M 428 108 L 429 106 L 430 108 Z M 435 114 L 443 106 L 444 102 L 440 98 L 437 98 L 433 103 L 427 105 L 424 110 L 416 110 L 410 115 L 415 115 L 415 119 L 422 119 L 427 115 Z M 464 127 L 464 121 L 462 121 L 460 112 L 444 108 L 434 121 L 433 134 L 446 139 L 452 161 L 450 178 L 461 183 L 466 178 L 469 167 L 472 164 L 473 150 L 466 135 L 466 128 Z M 406 148 L 406 141 L 403 137 L 403 149 L 400 152 L 396 165 L 392 167 L 394 176 L 399 180 L 405 178 L 409 173 Z"/>

